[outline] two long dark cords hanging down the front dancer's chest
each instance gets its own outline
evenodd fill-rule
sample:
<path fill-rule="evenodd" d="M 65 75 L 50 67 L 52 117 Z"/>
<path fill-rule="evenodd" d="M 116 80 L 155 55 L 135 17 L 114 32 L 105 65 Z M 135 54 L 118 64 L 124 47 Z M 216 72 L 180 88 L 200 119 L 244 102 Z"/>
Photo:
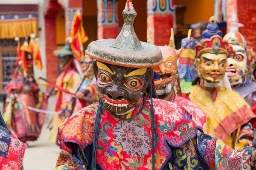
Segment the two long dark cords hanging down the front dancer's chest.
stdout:
<path fill-rule="evenodd" d="M 152 170 L 155 169 L 155 160 L 154 160 L 154 149 L 155 149 L 155 138 L 154 138 L 154 127 L 155 127 L 155 122 L 154 122 L 154 109 L 153 109 L 153 96 L 154 98 L 157 98 L 156 91 L 154 90 L 153 84 L 150 83 L 149 85 L 149 96 L 150 96 L 150 106 L 151 106 L 151 122 L 152 122 L 152 136 L 151 136 L 151 143 L 152 143 Z M 96 170 L 96 152 L 98 148 L 98 136 L 99 136 L 99 125 L 100 125 L 100 120 L 101 120 L 101 113 L 102 113 L 102 106 L 103 102 L 101 99 L 99 99 L 99 107 L 96 113 L 96 118 L 95 118 L 95 124 L 94 124 L 94 134 L 93 134 L 93 154 L 92 154 L 92 164 L 91 164 L 91 170 Z"/>

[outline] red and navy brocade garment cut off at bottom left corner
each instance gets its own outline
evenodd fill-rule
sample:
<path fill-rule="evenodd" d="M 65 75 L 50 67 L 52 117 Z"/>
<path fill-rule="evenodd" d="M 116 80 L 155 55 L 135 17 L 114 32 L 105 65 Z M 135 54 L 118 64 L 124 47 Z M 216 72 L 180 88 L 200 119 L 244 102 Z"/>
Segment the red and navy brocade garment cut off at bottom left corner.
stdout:
<path fill-rule="evenodd" d="M 0 126 L 0 170 L 24 170 L 22 162 L 25 149 L 25 143 Z"/>

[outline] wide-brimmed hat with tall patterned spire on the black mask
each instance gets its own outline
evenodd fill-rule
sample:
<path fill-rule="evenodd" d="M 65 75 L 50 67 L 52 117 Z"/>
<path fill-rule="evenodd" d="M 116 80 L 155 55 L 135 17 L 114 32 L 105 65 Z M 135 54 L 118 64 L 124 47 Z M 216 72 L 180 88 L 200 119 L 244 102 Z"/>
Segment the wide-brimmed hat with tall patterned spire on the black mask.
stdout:
<path fill-rule="evenodd" d="M 137 12 L 131 2 L 126 3 L 123 11 L 124 25 L 116 39 L 102 39 L 91 42 L 85 53 L 101 62 L 132 68 L 149 68 L 163 61 L 157 46 L 140 42 L 133 23 Z"/>

